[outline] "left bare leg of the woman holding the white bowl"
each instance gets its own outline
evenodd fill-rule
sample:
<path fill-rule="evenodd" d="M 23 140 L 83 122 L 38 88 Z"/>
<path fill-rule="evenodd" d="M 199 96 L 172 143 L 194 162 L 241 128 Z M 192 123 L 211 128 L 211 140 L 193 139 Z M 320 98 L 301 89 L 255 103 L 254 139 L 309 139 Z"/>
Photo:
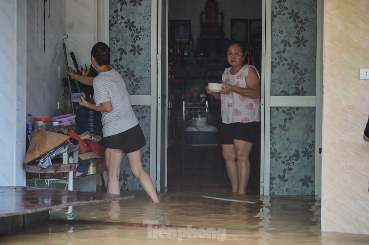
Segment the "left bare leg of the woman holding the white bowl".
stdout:
<path fill-rule="evenodd" d="M 237 157 L 234 145 L 222 145 L 222 152 L 228 177 L 231 181 L 232 192 L 238 193 Z"/>

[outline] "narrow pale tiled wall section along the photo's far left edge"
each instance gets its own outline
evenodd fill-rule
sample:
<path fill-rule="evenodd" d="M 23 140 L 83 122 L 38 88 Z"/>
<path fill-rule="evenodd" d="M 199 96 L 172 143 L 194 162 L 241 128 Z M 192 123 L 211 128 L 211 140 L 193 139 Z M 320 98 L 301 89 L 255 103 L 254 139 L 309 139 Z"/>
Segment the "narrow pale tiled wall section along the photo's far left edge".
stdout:
<path fill-rule="evenodd" d="M 14 185 L 17 140 L 17 3 L 0 0 L 0 185 Z M 19 62 L 20 65 L 22 62 Z M 21 103 L 24 100 L 21 101 Z"/>

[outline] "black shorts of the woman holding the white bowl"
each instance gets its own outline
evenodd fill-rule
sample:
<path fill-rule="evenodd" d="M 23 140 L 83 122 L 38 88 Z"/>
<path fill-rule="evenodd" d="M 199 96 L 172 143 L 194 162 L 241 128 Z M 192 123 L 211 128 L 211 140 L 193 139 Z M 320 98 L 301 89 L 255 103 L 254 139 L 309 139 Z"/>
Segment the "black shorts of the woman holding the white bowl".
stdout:
<path fill-rule="evenodd" d="M 249 123 L 222 123 L 221 143 L 224 145 L 234 144 L 233 140 L 243 140 L 250 143 L 255 142 L 255 134 L 260 122 Z"/>

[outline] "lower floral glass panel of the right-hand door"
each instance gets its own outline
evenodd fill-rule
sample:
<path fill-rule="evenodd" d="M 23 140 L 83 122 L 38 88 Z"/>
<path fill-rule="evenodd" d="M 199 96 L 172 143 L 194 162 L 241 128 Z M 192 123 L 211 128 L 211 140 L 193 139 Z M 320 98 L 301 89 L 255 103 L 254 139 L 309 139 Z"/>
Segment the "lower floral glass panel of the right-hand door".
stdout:
<path fill-rule="evenodd" d="M 315 107 L 270 108 L 270 195 L 315 195 Z"/>

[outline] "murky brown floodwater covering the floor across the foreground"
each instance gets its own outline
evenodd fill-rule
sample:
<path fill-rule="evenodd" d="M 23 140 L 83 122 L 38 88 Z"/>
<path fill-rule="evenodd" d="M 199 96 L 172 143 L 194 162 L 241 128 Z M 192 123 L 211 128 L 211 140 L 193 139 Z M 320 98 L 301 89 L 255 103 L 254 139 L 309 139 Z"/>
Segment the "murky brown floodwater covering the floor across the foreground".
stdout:
<path fill-rule="evenodd" d="M 0 243 L 218 244 L 224 238 L 222 244 L 234 245 L 359 245 L 369 241 L 368 235 L 322 235 L 321 203 L 314 197 L 239 196 L 211 189 L 159 193 L 161 203 L 152 204 L 145 192 L 132 192 L 132 195 L 133 200 L 53 211 L 47 226 L 35 227 L 21 235 L 0 237 Z M 68 220 L 65 215 L 68 213 L 75 215 L 73 220 Z"/>

